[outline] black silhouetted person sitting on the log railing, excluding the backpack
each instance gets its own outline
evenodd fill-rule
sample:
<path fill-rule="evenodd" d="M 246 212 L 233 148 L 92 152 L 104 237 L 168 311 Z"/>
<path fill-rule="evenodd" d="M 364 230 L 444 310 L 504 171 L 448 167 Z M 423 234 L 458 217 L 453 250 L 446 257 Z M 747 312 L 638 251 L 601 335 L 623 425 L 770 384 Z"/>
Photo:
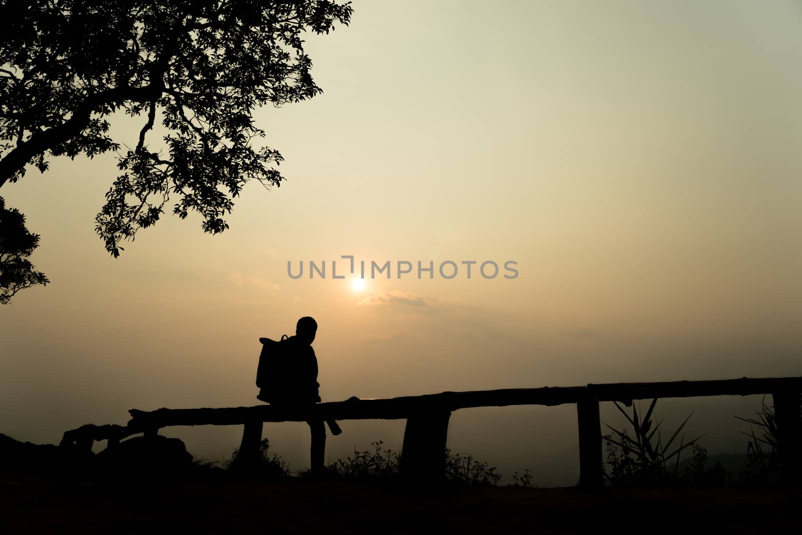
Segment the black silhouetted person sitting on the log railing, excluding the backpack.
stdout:
<path fill-rule="evenodd" d="M 271 387 L 262 388 L 257 396 L 271 405 L 304 407 L 320 402 L 318 394 L 318 359 L 311 343 L 318 332 L 318 322 L 305 316 L 298 320 L 295 336 L 281 342 L 282 351 L 277 359 L 277 375 Z M 286 344 L 286 346 L 285 346 Z M 312 472 L 320 472 L 324 466 L 326 452 L 326 427 L 322 419 L 306 421 L 312 433 L 311 464 Z M 340 433 L 336 422 L 330 421 L 329 428 L 334 435 Z"/>

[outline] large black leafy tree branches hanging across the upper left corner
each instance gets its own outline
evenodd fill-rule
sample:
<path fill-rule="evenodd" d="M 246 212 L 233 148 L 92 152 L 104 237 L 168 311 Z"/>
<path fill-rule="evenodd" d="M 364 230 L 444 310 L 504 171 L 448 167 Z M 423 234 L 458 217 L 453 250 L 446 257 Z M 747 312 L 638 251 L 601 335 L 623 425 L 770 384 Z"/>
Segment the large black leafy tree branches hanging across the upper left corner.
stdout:
<path fill-rule="evenodd" d="M 281 154 L 253 144 L 265 136 L 253 109 L 322 92 L 302 35 L 351 13 L 326 0 L 0 0 L 0 187 L 51 156 L 115 151 L 121 174 L 95 219 L 112 256 L 171 197 L 172 213 L 220 233 L 246 182 L 283 180 Z M 108 136 L 118 111 L 143 117 L 135 148 Z M 152 147 L 157 118 L 168 134 Z"/>

